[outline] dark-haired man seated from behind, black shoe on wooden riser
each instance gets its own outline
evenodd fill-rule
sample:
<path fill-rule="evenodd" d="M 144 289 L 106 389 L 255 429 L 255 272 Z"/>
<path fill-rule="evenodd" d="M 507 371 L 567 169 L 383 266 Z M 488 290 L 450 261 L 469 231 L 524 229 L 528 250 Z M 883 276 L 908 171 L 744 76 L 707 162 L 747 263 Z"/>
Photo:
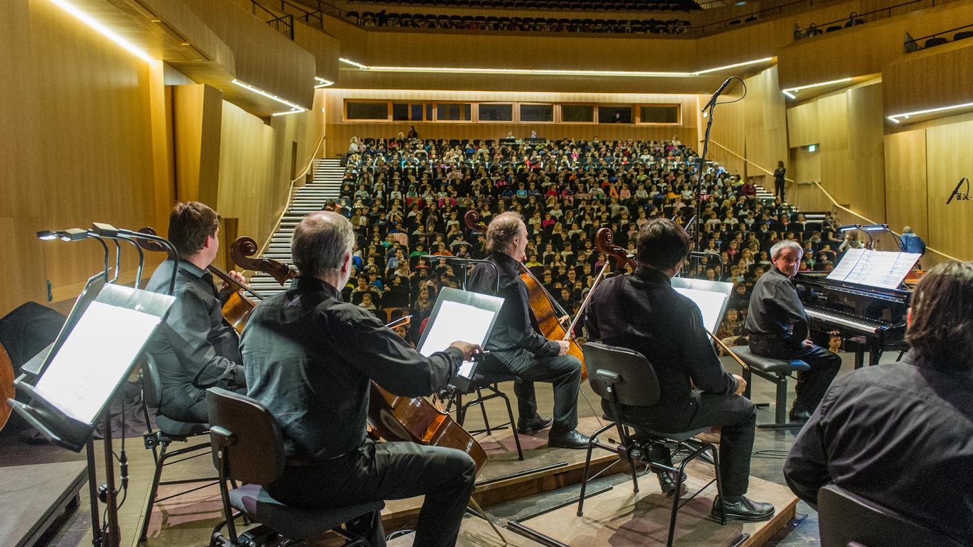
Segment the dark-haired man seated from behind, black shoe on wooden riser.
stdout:
<path fill-rule="evenodd" d="M 593 340 L 628 347 L 648 359 L 659 379 L 659 402 L 622 408 L 626 418 L 647 428 L 681 433 L 719 425 L 720 473 L 728 519 L 763 521 L 774 506 L 748 499 L 756 414 L 740 394 L 746 383 L 723 370 L 703 326 L 703 312 L 671 286 L 689 254 L 686 231 L 667 219 L 653 219 L 638 233 L 638 269 L 610 277 L 595 288 L 587 326 Z M 695 386 L 695 387 L 694 387 Z M 611 407 L 602 401 L 609 415 Z M 646 442 L 651 441 L 644 434 Z M 671 465 L 667 449 L 647 450 L 655 461 Z M 675 477 L 659 474 L 663 492 L 675 490 Z M 712 514 L 719 518 L 719 500 Z"/>

